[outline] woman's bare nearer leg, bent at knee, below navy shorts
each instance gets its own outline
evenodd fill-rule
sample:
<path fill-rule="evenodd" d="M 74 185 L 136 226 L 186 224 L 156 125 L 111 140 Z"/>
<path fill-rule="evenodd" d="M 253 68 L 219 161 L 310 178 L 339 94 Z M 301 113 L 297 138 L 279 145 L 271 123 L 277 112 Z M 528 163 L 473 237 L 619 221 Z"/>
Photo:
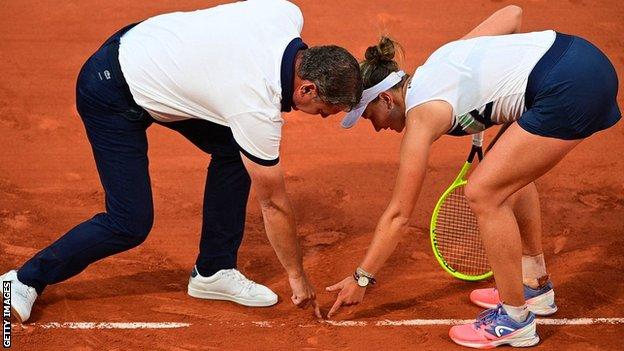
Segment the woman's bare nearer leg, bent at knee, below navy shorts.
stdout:
<path fill-rule="evenodd" d="M 508 200 L 548 172 L 580 141 L 533 135 L 514 124 L 470 177 L 466 195 L 479 222 L 501 301 L 508 305 L 524 305 L 523 242 L 519 223 L 529 227 L 536 227 L 539 223 L 541 227 L 540 221 L 531 222 L 527 218 L 535 216 L 533 210 L 525 208 L 523 211 L 521 208 L 517 211 L 517 219 L 513 201 Z M 536 233 L 541 233 L 541 230 Z M 534 239 L 532 235 L 527 236 L 527 248 L 541 247 L 541 243 Z"/>

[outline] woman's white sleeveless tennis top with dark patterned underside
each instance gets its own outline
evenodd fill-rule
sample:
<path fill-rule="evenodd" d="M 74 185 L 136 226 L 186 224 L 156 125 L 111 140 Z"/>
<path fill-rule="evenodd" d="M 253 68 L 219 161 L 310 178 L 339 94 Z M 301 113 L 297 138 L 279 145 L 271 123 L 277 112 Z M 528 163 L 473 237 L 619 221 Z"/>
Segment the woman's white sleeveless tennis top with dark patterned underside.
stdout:
<path fill-rule="evenodd" d="M 555 37 L 547 30 L 442 46 L 416 69 L 405 96 L 406 113 L 425 102 L 446 101 L 453 107 L 452 134 L 483 131 L 484 117 L 495 124 L 517 120 L 525 111 L 529 74 Z"/>

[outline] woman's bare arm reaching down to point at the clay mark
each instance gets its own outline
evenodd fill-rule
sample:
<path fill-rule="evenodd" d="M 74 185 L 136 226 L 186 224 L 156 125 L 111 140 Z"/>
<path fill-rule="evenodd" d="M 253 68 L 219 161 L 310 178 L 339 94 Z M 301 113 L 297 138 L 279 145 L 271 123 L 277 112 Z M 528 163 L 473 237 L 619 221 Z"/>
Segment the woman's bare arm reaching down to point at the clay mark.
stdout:
<path fill-rule="evenodd" d="M 431 144 L 449 127 L 452 109 L 445 102 L 435 101 L 410 111 L 406 132 L 401 143 L 399 173 L 390 204 L 381 216 L 373 240 L 360 267 L 375 274 L 396 248 L 407 231 L 425 178 Z M 349 276 L 327 288 L 340 291 L 327 317 L 342 305 L 355 305 L 364 298 L 366 288 L 358 286 Z"/>

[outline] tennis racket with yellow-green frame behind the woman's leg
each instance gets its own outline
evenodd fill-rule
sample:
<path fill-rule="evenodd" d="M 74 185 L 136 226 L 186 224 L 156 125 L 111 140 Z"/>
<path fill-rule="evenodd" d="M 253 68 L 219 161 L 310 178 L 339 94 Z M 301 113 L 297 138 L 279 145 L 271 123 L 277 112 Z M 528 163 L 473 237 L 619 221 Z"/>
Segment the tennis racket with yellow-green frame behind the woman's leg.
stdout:
<path fill-rule="evenodd" d="M 494 146 L 510 124 L 505 124 L 488 146 Z M 433 253 L 445 271 L 455 278 L 469 281 L 483 280 L 492 276 L 488 264 L 477 218 L 468 205 L 464 189 L 475 156 L 483 159 L 483 132 L 472 138 L 468 159 L 453 183 L 442 194 L 431 216 L 429 234 Z"/>

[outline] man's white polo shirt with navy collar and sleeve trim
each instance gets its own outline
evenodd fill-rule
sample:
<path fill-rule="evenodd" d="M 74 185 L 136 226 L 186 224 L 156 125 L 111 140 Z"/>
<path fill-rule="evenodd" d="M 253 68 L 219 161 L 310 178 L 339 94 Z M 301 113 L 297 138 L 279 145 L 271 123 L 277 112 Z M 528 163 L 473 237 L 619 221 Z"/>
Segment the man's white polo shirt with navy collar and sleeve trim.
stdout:
<path fill-rule="evenodd" d="M 245 155 L 276 164 L 294 57 L 306 47 L 302 28 L 299 8 L 282 0 L 169 13 L 126 33 L 119 62 L 134 100 L 154 119 L 227 126 Z"/>

